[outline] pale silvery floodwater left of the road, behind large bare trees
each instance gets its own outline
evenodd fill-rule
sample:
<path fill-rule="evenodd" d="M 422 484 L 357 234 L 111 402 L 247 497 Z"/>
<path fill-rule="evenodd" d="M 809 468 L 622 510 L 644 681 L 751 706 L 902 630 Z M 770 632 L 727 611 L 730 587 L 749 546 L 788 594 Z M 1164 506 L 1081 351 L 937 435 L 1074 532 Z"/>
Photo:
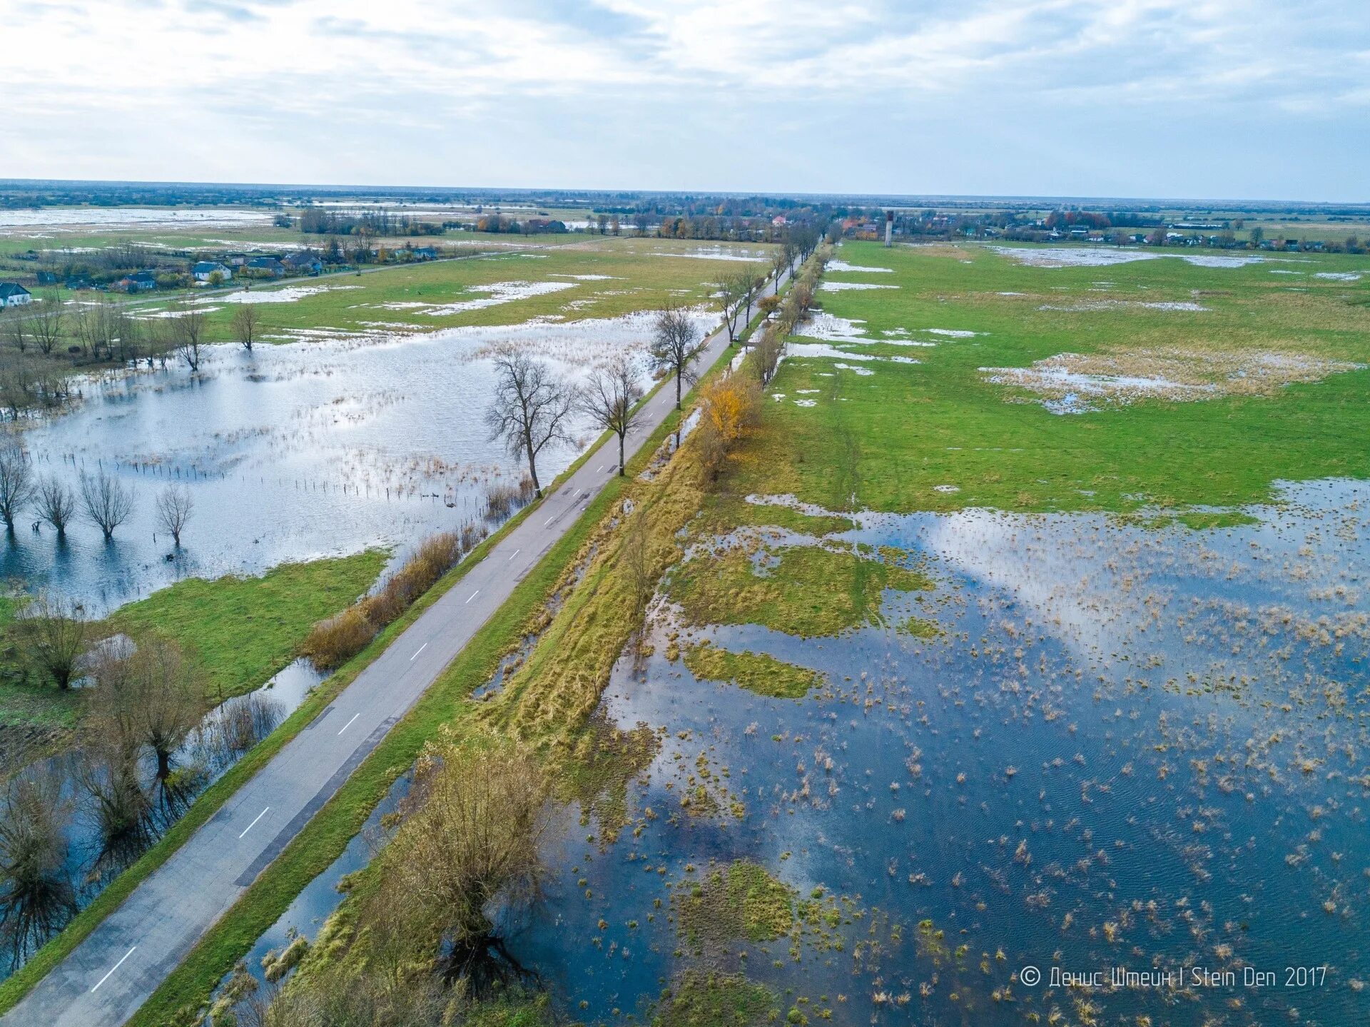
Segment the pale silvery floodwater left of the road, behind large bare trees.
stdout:
<path fill-rule="evenodd" d="M 704 326 L 704 317 L 699 319 Z M 492 344 L 510 341 L 581 374 L 641 347 L 649 315 L 458 328 L 390 340 L 334 339 L 214 347 L 185 367 L 92 384 L 71 413 L 30 428 L 41 474 L 77 485 L 105 469 L 137 490 L 112 543 L 77 524 L 59 542 L 29 520 L 0 543 L 0 576 L 49 585 L 103 610 L 178 577 L 258 573 L 285 561 L 396 547 L 484 510 L 489 481 L 521 469 L 486 436 Z M 586 440 L 592 433 L 581 426 Z M 545 481 L 574 458 L 549 450 Z M 184 555 L 167 561 L 153 502 L 185 483 L 195 514 Z"/>

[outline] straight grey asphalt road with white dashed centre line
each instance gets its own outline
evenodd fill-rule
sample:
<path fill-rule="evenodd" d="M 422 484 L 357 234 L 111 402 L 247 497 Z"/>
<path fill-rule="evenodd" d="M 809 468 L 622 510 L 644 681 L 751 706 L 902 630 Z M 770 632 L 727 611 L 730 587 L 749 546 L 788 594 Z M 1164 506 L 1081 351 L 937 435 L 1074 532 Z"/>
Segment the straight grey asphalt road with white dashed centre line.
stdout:
<path fill-rule="evenodd" d="M 708 337 L 699 365 L 708 367 L 726 348 L 721 328 Z M 647 403 L 630 436 L 637 440 L 632 452 L 666 420 L 674 399 L 667 381 Z M 616 472 L 616 457 L 615 439 L 592 452 L 0 1024 L 115 1027 L 132 1016 L 570 529 Z"/>

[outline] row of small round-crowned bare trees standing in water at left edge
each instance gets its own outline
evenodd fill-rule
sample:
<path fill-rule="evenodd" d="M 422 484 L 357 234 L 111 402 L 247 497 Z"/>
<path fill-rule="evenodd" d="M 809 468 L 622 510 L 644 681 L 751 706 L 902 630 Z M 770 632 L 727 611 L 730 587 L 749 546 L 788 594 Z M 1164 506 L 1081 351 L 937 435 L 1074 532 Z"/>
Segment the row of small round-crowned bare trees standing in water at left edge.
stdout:
<path fill-rule="evenodd" d="M 18 446 L 0 450 L 0 520 L 12 532 L 15 520 L 25 509 L 66 535 L 78 513 L 100 528 L 105 540 L 133 516 L 136 492 L 119 479 L 100 470 L 82 474 L 78 490 L 71 490 L 56 477 L 38 477 L 33 462 Z M 195 499 L 185 485 L 167 485 L 156 498 L 156 522 L 179 547 L 181 533 L 190 521 Z"/>

